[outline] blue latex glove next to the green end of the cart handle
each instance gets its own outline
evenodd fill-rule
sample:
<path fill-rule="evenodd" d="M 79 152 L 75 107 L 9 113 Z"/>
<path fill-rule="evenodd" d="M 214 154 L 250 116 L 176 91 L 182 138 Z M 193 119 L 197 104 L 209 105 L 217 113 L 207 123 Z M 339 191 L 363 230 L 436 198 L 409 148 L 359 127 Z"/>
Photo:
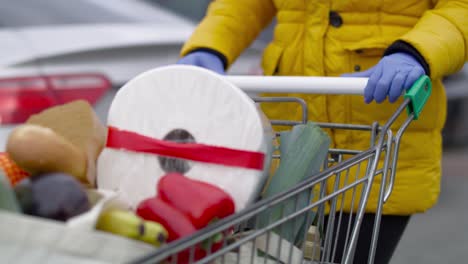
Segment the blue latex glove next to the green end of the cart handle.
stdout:
<path fill-rule="evenodd" d="M 424 68 L 413 56 L 407 53 L 393 53 L 383 57 L 377 65 L 367 71 L 345 74 L 347 77 L 369 77 L 364 89 L 366 103 L 375 100 L 382 103 L 388 100 L 394 103 L 403 91 L 424 75 Z"/>

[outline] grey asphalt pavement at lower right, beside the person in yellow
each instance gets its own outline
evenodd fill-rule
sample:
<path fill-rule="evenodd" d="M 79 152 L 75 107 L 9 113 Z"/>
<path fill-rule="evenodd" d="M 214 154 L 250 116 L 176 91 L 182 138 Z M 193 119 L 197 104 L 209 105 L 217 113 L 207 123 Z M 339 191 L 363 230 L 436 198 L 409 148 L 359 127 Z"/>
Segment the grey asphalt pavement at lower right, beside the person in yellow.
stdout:
<path fill-rule="evenodd" d="M 414 216 L 391 264 L 468 263 L 468 148 L 447 150 L 440 198 Z"/>

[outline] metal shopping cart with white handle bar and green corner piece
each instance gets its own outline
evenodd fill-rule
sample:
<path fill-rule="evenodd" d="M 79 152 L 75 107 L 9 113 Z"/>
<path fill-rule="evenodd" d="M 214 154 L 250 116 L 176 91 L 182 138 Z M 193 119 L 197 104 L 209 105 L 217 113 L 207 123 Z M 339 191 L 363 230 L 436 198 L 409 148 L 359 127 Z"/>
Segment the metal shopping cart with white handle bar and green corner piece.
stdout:
<path fill-rule="evenodd" d="M 362 95 L 366 78 L 339 77 L 250 77 L 229 76 L 229 81 L 249 94 L 258 93 L 306 93 L 306 94 L 352 94 Z M 427 76 L 420 78 L 405 94 L 403 103 L 388 121 L 373 124 L 318 123 L 324 129 L 344 129 L 370 133 L 369 148 L 365 150 L 329 149 L 323 169 L 311 175 L 293 188 L 273 197 L 259 200 L 243 211 L 222 219 L 196 234 L 165 245 L 153 254 L 135 260 L 135 263 L 178 263 L 180 252 L 188 252 L 189 263 L 195 262 L 196 247 L 213 243 L 217 234 L 227 235 L 222 246 L 208 252 L 197 263 L 352 263 L 358 245 L 361 223 L 369 206 L 373 184 L 378 182 L 378 199 L 375 220 L 369 247 L 368 263 L 373 263 L 383 204 L 390 197 L 395 181 L 400 140 L 406 128 L 419 114 L 431 93 Z M 272 125 L 295 126 L 308 121 L 307 104 L 300 98 L 267 98 L 252 95 L 259 103 L 295 102 L 302 107 L 302 120 L 272 120 Z M 396 120 L 404 117 L 397 129 L 392 129 Z M 400 123 L 399 123 L 400 124 Z M 396 130 L 396 131 L 394 131 Z M 280 158 L 274 155 L 274 158 Z M 333 181 L 330 190 L 327 183 Z M 330 184 L 328 184 L 330 185 Z M 308 196 L 307 204 L 300 197 Z M 345 212 L 345 197 L 351 201 Z M 283 208 L 294 202 L 294 210 L 284 210 L 277 221 L 259 226 L 260 215 L 268 214 L 271 208 Z M 347 214 L 347 220 L 343 215 Z M 303 243 L 297 245 L 278 235 L 286 225 L 300 224 L 299 219 L 312 222 L 304 229 Z M 310 219 L 313 218 L 313 219 Z M 345 234 L 345 235 L 343 235 Z M 208 250 L 211 245 L 208 246 Z"/>

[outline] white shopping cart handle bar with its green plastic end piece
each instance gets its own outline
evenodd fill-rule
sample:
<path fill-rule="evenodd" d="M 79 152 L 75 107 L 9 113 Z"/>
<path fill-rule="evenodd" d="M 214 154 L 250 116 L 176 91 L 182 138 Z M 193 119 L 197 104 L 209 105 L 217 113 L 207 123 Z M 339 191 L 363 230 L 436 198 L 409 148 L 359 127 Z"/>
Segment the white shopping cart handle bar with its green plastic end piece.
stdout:
<path fill-rule="evenodd" d="M 226 79 L 246 93 L 302 93 L 363 95 L 368 78 L 304 77 L 304 76 L 226 76 Z M 411 102 L 408 114 L 418 119 L 432 91 L 428 76 L 420 77 L 406 92 Z"/>

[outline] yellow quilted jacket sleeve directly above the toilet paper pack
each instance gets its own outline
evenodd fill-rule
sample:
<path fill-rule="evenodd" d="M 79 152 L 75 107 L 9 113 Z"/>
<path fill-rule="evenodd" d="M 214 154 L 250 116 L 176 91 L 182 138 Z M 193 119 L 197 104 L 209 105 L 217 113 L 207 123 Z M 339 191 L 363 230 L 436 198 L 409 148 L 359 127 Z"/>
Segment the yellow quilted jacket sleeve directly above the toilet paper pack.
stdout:
<path fill-rule="evenodd" d="M 247 48 L 273 19 L 272 0 L 216 0 L 182 48 L 181 56 L 195 49 L 215 50 L 227 67 Z"/>

